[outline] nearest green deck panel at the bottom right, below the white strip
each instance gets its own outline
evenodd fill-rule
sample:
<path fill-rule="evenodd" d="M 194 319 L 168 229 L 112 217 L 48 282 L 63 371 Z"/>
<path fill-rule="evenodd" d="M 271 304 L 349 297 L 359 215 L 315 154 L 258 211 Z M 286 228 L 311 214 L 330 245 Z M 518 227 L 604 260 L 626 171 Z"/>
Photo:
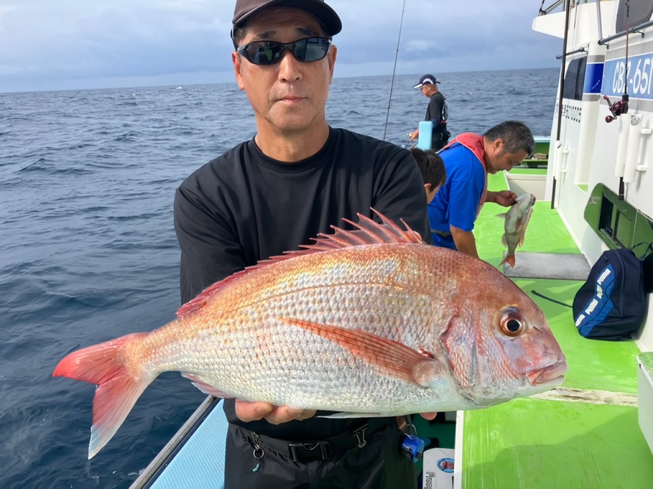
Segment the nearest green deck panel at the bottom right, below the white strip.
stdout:
<path fill-rule="evenodd" d="M 519 399 L 464 417 L 464 488 L 653 487 L 637 408 Z"/>

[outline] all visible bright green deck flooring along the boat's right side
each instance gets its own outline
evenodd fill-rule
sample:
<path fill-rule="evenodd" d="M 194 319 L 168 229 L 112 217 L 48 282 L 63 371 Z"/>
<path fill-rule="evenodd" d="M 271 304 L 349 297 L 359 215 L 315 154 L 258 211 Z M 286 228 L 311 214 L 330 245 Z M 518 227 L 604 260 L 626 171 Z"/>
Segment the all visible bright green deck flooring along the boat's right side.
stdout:
<path fill-rule="evenodd" d="M 490 190 L 507 188 L 490 175 Z M 505 208 L 483 207 L 474 234 L 479 256 L 492 265 L 503 258 Z M 535 203 L 522 252 L 579 253 L 557 211 Z M 582 282 L 515 279 L 543 310 L 567 357 L 565 387 L 637 393 L 635 342 L 588 340 L 578 332 L 571 305 Z M 517 399 L 464 413 L 462 487 L 653 488 L 653 454 L 637 422 L 637 408 L 585 402 Z"/>

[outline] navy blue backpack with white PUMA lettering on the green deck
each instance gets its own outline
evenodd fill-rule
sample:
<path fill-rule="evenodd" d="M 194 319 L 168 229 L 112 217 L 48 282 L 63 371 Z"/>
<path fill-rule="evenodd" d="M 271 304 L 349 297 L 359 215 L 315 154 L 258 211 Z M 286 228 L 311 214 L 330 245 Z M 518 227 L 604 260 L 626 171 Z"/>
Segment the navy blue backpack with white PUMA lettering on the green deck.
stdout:
<path fill-rule="evenodd" d="M 642 261 L 633 250 L 601 255 L 573 299 L 573 317 L 585 338 L 623 340 L 639 329 L 646 318 L 646 292 Z"/>

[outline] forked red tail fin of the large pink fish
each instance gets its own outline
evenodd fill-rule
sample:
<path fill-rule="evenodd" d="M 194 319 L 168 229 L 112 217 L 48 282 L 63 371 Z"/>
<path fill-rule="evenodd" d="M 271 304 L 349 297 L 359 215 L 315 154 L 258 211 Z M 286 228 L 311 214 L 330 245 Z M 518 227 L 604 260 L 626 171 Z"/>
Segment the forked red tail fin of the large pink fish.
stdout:
<path fill-rule="evenodd" d="M 148 334 L 127 334 L 116 340 L 73 351 L 54 369 L 53 377 L 67 377 L 97 385 L 88 458 L 97 454 L 116 434 L 140 394 L 156 377 L 151 372 L 135 376 L 127 368 L 125 346 Z"/>

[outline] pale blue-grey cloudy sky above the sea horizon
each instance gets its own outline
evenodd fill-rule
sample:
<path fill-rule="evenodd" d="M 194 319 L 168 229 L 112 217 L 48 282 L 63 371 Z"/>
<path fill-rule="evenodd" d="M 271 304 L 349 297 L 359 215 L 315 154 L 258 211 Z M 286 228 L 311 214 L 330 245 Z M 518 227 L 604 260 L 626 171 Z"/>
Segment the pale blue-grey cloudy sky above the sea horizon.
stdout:
<path fill-rule="evenodd" d="M 392 74 L 403 0 L 330 0 L 336 76 Z M 557 67 L 539 0 L 407 0 L 397 72 Z M 232 82 L 234 0 L 0 0 L 0 92 Z"/>

